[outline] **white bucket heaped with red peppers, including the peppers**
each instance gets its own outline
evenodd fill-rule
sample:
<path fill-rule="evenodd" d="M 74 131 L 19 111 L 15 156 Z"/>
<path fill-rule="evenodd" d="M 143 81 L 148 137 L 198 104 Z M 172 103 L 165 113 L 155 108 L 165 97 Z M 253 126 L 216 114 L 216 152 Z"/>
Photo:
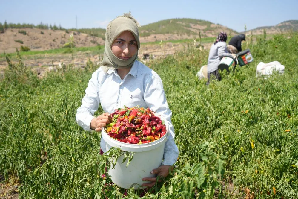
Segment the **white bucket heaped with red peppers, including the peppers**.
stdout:
<path fill-rule="evenodd" d="M 113 183 L 122 188 L 142 188 L 141 184 L 146 183 L 142 178 L 156 177 L 150 171 L 162 163 L 169 134 L 168 122 L 158 113 L 143 107 L 124 107 L 111 113 L 111 117 L 113 122 L 102 129 L 107 151 L 119 147 L 133 153 L 133 159 L 126 166 L 128 160 L 123 162 L 124 157 L 119 157 L 108 174 Z"/>

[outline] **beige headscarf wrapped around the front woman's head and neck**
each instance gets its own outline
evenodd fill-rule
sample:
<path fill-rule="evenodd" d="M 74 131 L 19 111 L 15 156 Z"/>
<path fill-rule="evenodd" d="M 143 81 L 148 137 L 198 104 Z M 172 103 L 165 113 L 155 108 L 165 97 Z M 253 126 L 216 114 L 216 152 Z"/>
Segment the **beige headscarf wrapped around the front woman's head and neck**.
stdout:
<path fill-rule="evenodd" d="M 139 23 L 130 15 L 124 13 L 109 23 L 105 32 L 105 52 L 102 60 L 102 70 L 107 72 L 109 69 L 129 68 L 138 58 L 140 48 Z M 116 57 L 112 52 L 113 41 L 124 31 L 130 31 L 136 38 L 138 51 L 128 60 Z"/>

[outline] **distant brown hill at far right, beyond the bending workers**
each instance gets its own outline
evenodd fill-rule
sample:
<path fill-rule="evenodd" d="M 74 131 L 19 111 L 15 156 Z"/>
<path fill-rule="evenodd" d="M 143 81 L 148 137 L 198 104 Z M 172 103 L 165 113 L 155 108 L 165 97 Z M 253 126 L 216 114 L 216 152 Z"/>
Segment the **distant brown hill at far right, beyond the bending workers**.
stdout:
<path fill-rule="evenodd" d="M 261 26 L 249 30 L 252 34 L 263 34 L 264 30 L 267 34 L 277 34 L 287 31 L 298 31 L 298 20 L 288 20 L 274 26 Z"/>

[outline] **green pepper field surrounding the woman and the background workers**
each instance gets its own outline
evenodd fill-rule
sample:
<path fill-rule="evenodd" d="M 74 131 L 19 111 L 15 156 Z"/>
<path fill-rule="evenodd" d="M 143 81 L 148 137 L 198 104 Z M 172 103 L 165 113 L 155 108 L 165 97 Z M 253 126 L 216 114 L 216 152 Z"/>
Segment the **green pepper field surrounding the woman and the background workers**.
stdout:
<path fill-rule="evenodd" d="M 180 154 L 145 195 L 106 185 L 105 163 L 119 151 L 100 156 L 100 133 L 76 124 L 97 66 L 40 79 L 9 63 L 0 82 L 1 176 L 17 179 L 19 198 L 298 198 L 298 34 L 265 37 L 247 44 L 252 63 L 208 87 L 196 77 L 208 51 L 147 63 L 162 78 Z M 256 77 L 259 62 L 275 60 L 283 75 Z"/>

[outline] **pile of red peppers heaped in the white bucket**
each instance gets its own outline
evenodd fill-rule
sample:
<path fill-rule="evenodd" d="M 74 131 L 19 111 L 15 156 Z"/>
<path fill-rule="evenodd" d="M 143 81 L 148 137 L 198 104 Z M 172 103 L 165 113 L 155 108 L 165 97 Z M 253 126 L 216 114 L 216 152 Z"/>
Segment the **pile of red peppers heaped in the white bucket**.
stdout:
<path fill-rule="evenodd" d="M 119 108 L 111 113 L 113 122 L 105 126 L 107 134 L 129 144 L 144 144 L 158 140 L 166 134 L 162 120 L 149 108 Z"/>

